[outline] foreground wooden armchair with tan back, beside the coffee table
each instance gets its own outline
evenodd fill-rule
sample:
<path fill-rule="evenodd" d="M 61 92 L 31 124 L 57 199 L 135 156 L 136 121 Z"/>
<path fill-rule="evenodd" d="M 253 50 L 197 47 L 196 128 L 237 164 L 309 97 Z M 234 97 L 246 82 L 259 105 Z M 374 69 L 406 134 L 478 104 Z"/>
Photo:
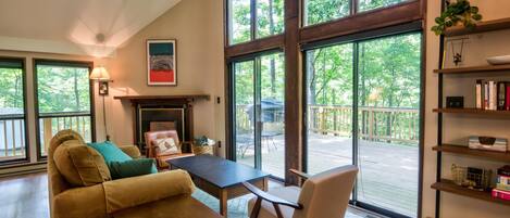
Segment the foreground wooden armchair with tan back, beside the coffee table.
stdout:
<path fill-rule="evenodd" d="M 291 169 L 304 179 L 302 188 L 285 187 L 264 192 L 242 184 L 256 195 L 248 203 L 250 218 L 344 217 L 358 167 L 349 165 L 314 176 Z"/>

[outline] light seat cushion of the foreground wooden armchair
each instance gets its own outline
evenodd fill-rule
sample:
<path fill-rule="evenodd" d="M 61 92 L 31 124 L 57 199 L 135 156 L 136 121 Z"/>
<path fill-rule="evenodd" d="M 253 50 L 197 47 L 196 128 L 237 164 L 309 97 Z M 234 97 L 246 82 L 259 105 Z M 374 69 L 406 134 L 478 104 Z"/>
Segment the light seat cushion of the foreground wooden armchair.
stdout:
<path fill-rule="evenodd" d="M 275 188 L 268 191 L 271 195 L 277 196 L 283 200 L 287 200 L 289 202 L 298 202 L 299 193 L 301 189 L 298 187 L 284 187 L 284 188 Z M 248 202 L 248 211 L 251 214 L 253 209 L 253 205 L 256 203 L 257 197 L 251 198 Z M 282 210 L 282 215 L 284 218 L 291 218 L 294 215 L 294 208 L 288 206 L 279 205 L 279 209 Z M 273 204 L 262 201 L 262 206 L 260 208 L 259 217 L 258 218 L 276 218 L 276 211 L 274 210 Z"/>

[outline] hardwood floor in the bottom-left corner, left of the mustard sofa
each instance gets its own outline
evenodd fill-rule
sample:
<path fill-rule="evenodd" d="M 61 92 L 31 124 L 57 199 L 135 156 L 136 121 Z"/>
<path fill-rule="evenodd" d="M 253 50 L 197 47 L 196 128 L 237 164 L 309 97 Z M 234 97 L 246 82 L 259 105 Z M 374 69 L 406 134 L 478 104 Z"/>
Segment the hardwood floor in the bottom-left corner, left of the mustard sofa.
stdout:
<path fill-rule="evenodd" d="M 49 217 L 47 174 L 1 178 L 0 217 Z"/>

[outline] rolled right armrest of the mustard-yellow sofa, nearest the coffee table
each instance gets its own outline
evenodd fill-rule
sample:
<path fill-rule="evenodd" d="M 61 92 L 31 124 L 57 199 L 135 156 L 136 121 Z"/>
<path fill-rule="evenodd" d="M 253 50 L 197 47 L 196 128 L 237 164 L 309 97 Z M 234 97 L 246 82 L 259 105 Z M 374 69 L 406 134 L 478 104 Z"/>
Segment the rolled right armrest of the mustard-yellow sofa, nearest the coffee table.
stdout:
<path fill-rule="evenodd" d="M 195 191 L 191 177 L 184 170 L 117 179 L 103 187 L 109 214 Z"/>

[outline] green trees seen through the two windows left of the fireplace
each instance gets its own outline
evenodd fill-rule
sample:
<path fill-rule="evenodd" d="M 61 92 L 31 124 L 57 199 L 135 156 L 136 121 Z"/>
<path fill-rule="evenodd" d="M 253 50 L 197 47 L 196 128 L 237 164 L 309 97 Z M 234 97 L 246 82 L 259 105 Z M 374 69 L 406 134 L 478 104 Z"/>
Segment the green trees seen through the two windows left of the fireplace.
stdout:
<path fill-rule="evenodd" d="M 37 66 L 37 100 L 40 113 L 90 112 L 88 68 Z M 0 67 L 0 108 L 3 114 L 23 113 L 23 69 Z"/>

